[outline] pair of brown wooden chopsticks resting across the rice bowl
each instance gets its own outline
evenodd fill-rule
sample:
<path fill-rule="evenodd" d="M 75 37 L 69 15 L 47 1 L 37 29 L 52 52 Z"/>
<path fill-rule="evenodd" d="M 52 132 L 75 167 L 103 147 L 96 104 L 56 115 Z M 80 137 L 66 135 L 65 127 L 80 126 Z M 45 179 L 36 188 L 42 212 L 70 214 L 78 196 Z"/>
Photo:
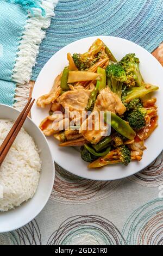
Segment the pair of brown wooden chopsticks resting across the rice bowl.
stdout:
<path fill-rule="evenodd" d="M 21 127 L 23 126 L 24 121 L 26 120 L 35 100 L 33 100 L 32 102 L 31 101 L 32 97 L 30 97 L 30 99 L 27 102 L 27 105 L 24 107 L 20 115 L 18 115 L 18 118 L 16 119 L 14 125 L 12 126 L 11 130 L 9 131 L 7 137 L 4 139 L 0 147 L 0 166 L 4 161 L 5 157 L 7 156 L 12 144 L 14 143 L 18 135 L 18 132 L 20 132 Z"/>

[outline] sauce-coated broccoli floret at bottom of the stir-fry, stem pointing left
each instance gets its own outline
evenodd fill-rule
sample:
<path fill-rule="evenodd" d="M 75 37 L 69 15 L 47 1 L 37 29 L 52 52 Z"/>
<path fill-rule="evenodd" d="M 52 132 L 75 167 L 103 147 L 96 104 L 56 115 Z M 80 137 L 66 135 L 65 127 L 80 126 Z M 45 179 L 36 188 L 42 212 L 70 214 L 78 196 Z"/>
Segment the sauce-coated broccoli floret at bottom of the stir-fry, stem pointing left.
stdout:
<path fill-rule="evenodd" d="M 89 168 L 98 168 L 106 166 L 108 164 L 123 163 L 128 165 L 131 161 L 131 152 L 126 145 L 117 147 L 116 149 L 110 151 L 107 155 L 99 157 L 96 161 L 89 164 Z"/>

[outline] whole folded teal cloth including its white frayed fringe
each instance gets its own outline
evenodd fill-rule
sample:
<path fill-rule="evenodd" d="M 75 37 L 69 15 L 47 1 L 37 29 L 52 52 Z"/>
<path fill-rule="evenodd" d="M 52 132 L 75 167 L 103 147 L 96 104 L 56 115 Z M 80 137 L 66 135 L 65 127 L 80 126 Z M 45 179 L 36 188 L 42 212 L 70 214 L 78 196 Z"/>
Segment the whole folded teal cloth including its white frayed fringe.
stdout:
<path fill-rule="evenodd" d="M 0 103 L 21 108 L 26 103 L 27 83 L 57 2 L 0 1 Z"/>

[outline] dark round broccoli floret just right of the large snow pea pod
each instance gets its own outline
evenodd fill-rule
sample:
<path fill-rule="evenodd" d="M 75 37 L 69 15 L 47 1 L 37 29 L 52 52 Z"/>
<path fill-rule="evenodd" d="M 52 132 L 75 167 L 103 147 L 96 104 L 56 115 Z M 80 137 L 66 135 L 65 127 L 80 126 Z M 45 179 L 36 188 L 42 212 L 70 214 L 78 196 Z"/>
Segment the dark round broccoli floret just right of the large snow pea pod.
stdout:
<path fill-rule="evenodd" d="M 146 109 L 143 107 L 139 107 L 127 113 L 127 121 L 133 129 L 140 130 L 146 126 L 146 115 Z"/>

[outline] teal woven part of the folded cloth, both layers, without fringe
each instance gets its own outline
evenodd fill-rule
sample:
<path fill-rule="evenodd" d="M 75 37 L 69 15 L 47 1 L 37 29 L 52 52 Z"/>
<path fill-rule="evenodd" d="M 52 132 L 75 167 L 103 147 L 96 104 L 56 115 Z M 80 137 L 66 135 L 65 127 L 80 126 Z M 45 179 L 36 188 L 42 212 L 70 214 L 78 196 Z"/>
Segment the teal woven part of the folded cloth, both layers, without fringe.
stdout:
<path fill-rule="evenodd" d="M 0 1 L 0 102 L 9 106 L 14 101 L 16 83 L 10 81 L 26 16 L 19 5 Z"/>

